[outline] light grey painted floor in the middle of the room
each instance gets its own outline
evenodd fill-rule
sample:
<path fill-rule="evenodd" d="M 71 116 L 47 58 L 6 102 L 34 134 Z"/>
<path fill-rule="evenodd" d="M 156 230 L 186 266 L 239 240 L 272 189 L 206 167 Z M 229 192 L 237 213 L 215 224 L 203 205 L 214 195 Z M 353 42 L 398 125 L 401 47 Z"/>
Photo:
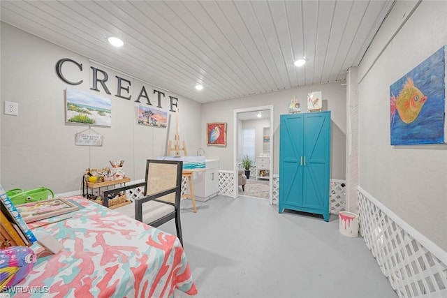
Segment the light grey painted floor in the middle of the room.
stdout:
<path fill-rule="evenodd" d="M 361 237 L 338 216 L 279 214 L 267 200 L 217 196 L 182 201 L 184 250 L 196 297 L 397 297 Z M 175 234 L 174 221 L 159 227 Z M 189 297 L 175 292 L 175 297 Z"/>

